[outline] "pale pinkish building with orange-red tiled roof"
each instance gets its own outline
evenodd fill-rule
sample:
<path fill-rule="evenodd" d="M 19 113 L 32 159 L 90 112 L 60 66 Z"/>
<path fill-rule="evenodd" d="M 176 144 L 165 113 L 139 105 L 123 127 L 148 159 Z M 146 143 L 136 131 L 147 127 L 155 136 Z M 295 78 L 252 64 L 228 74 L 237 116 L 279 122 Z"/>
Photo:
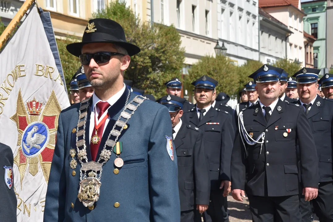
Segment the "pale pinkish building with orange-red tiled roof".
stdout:
<path fill-rule="evenodd" d="M 300 0 L 260 0 L 259 7 L 263 8 L 274 18 L 281 21 L 292 32 L 287 37 L 287 58 L 290 61 L 299 61 L 305 66 L 305 50 L 303 35 L 303 17 Z"/>

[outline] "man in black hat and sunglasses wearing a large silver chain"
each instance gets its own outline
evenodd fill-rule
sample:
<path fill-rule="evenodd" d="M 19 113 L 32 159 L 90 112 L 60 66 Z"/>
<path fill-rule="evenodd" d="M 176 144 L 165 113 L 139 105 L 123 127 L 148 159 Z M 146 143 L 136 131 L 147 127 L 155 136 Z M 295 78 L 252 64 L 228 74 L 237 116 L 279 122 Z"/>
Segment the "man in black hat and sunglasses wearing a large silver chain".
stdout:
<path fill-rule="evenodd" d="M 44 221 L 179 221 L 168 109 L 124 84 L 140 48 L 117 22 L 97 18 L 67 50 L 95 91 L 60 113 Z"/>

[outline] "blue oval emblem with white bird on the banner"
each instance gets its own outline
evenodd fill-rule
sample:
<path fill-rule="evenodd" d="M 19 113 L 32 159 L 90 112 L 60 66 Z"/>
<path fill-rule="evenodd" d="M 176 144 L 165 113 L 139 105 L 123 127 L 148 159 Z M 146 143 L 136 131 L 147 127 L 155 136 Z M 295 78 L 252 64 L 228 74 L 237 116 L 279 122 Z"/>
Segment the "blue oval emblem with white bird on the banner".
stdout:
<path fill-rule="evenodd" d="M 22 151 L 26 157 L 35 157 L 47 146 L 50 138 L 49 128 L 44 122 L 30 123 L 23 131 Z"/>

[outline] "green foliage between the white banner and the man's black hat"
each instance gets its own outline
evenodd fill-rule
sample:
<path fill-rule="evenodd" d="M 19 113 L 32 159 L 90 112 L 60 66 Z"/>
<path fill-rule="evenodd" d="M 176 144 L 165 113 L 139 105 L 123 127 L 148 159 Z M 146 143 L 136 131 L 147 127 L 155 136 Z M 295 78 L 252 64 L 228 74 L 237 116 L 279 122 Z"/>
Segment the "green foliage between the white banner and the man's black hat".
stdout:
<path fill-rule="evenodd" d="M 67 51 L 66 45 L 76 42 L 78 40 L 78 38 L 72 36 L 67 36 L 64 39 L 56 39 L 61 65 L 63 67 L 63 72 L 67 83 L 67 89 L 69 89 L 69 83 L 71 82 L 73 75 L 76 73 L 76 71 L 78 71 L 78 68 L 81 66 L 81 62 L 78 57 L 72 55 Z"/>

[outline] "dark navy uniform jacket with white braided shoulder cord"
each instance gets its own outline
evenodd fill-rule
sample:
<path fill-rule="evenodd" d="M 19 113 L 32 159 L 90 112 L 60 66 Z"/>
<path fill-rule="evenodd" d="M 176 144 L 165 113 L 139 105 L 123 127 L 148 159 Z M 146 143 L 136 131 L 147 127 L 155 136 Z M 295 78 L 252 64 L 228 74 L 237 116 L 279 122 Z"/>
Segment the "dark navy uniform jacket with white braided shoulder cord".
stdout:
<path fill-rule="evenodd" d="M 278 99 L 268 123 L 259 103 L 243 110 L 247 133 L 256 140 L 265 132 L 265 142 L 262 150 L 261 144 L 248 145 L 245 140 L 244 147 L 241 140 L 243 135 L 237 129 L 231 156 L 232 189 L 242 189 L 255 196 L 298 194 L 297 143 L 303 186 L 318 187 L 315 143 L 301 108 Z M 287 129 L 290 129 L 289 133 Z"/>

